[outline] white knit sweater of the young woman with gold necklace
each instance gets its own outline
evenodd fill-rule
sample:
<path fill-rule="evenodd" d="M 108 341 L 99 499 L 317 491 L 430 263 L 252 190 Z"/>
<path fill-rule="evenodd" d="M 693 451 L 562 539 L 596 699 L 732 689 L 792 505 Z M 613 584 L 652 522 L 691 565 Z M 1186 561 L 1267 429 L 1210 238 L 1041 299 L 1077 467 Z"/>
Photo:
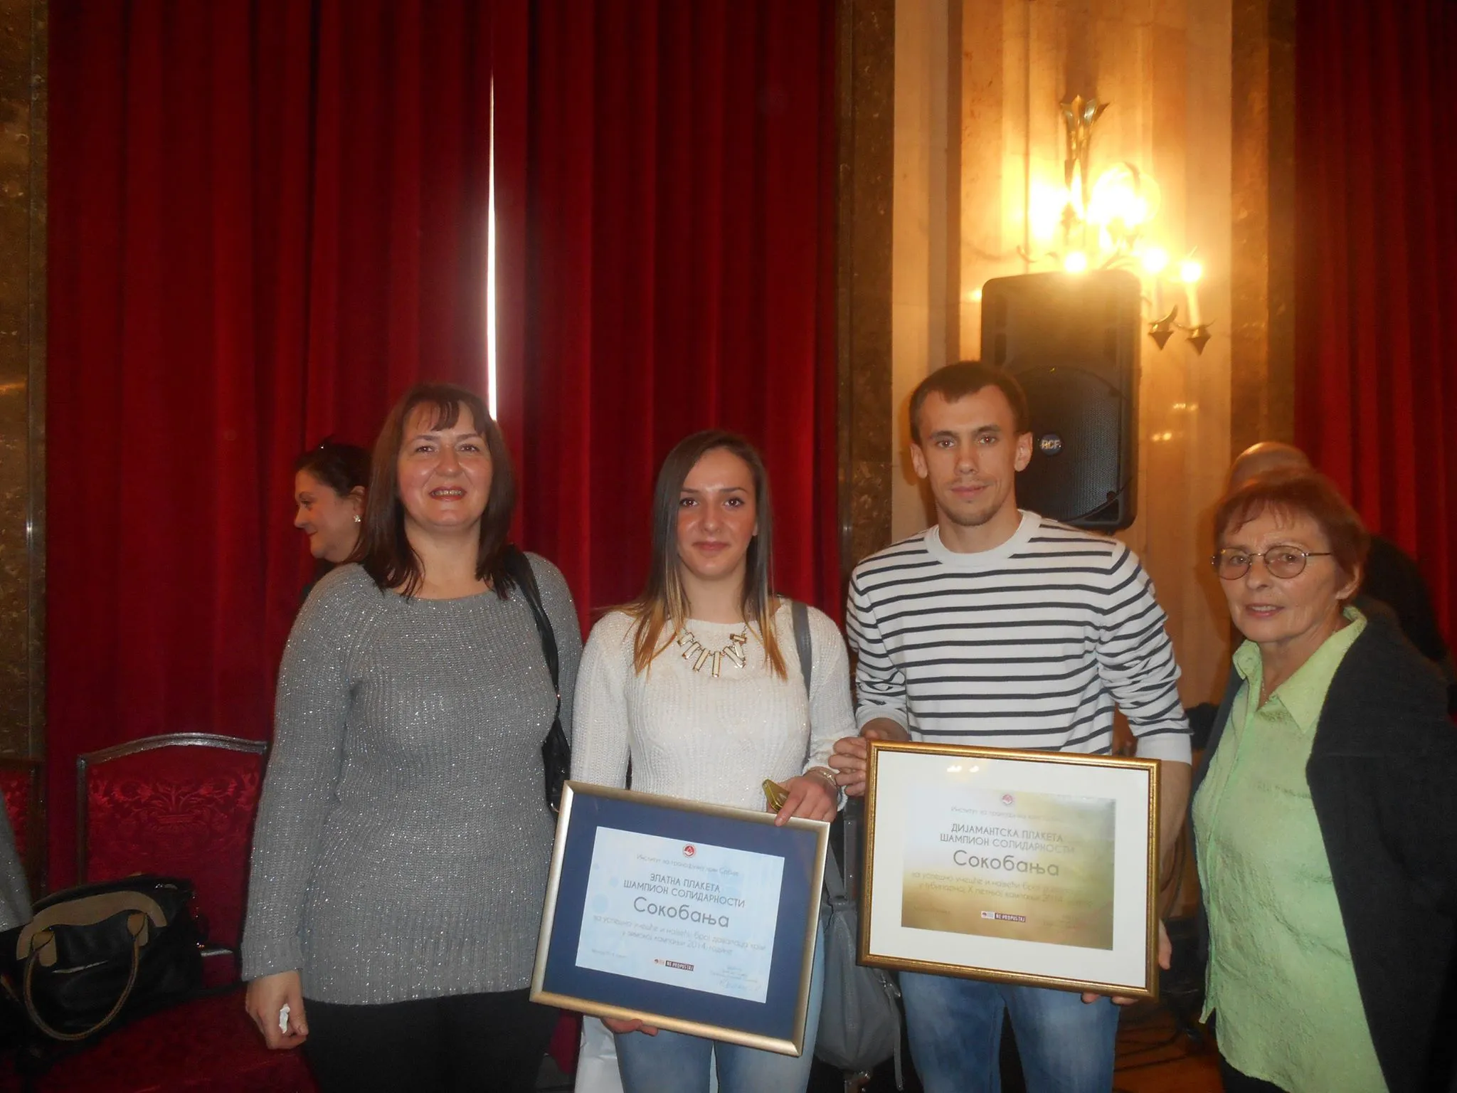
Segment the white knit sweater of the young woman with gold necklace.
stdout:
<path fill-rule="evenodd" d="M 632 670 L 632 619 L 621 611 L 592 628 L 577 675 L 571 777 L 707 804 L 763 809 L 763 780 L 823 767 L 835 740 L 855 734 L 849 662 L 835 624 L 810 608 L 812 681 L 804 694 L 788 603 L 774 618 L 787 678 L 752 635 L 747 666 L 727 657 L 720 676 L 695 672 L 670 644 L 644 673 Z M 728 644 L 740 624 L 691 619 L 707 649 Z"/>

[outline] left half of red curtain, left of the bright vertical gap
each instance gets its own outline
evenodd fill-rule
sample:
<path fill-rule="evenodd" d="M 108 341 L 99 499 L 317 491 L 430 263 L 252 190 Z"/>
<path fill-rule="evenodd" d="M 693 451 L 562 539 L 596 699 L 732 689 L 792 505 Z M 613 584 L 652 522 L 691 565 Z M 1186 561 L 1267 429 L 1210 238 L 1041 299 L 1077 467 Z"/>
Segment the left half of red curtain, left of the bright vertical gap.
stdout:
<path fill-rule="evenodd" d="M 50 15 L 47 758 L 67 883 L 79 752 L 270 733 L 307 573 L 293 458 L 328 433 L 369 444 L 418 377 L 484 388 L 491 23 L 517 51 L 526 23 L 478 0 Z"/>

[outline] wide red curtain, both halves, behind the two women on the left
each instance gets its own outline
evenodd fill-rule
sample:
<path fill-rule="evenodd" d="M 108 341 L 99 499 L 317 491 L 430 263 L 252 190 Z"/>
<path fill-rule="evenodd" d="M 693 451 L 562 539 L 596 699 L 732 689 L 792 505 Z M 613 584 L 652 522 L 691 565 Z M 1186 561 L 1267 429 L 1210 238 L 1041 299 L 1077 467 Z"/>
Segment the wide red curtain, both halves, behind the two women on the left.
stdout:
<path fill-rule="evenodd" d="M 52 0 L 55 883 L 79 752 L 268 734 L 294 455 L 484 385 L 491 80 L 525 544 L 627 598 L 657 462 L 728 426 L 838 614 L 832 41 L 830 0 Z"/>

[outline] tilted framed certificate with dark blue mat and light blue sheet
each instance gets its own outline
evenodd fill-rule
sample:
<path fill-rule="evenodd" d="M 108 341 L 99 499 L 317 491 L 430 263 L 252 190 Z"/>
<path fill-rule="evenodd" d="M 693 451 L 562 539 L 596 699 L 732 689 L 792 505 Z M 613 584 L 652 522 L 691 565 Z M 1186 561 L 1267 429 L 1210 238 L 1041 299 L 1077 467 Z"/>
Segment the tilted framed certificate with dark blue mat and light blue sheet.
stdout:
<path fill-rule="evenodd" d="M 774 819 L 772 812 L 568 781 L 532 1001 L 800 1055 L 829 825 L 796 818 L 777 826 Z M 627 858 L 619 848 L 628 848 Z M 784 866 L 771 892 L 752 883 L 750 870 L 774 873 L 772 863 L 758 860 L 772 857 Z M 689 870 L 701 879 L 679 876 Z M 718 883 L 726 873 L 742 885 L 739 895 Z M 638 892 L 631 901 L 629 889 Z M 641 912 L 632 909 L 640 902 Z M 705 918 L 726 921 L 704 925 Z M 731 930 L 739 934 L 728 937 Z M 756 957 L 736 959 L 756 959 L 762 976 L 724 978 L 714 960 L 727 959 L 721 955 L 730 947 L 755 950 Z M 689 976 L 698 976 L 696 985 L 685 985 Z"/>

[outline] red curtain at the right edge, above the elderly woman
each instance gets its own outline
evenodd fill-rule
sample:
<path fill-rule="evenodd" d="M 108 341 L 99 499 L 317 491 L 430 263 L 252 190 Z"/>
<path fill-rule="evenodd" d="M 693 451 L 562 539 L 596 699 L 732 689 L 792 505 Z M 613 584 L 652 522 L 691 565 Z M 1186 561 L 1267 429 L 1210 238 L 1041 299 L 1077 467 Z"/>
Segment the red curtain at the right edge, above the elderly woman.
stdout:
<path fill-rule="evenodd" d="M 1457 4 L 1297 10 L 1297 442 L 1418 558 L 1451 638 Z"/>

